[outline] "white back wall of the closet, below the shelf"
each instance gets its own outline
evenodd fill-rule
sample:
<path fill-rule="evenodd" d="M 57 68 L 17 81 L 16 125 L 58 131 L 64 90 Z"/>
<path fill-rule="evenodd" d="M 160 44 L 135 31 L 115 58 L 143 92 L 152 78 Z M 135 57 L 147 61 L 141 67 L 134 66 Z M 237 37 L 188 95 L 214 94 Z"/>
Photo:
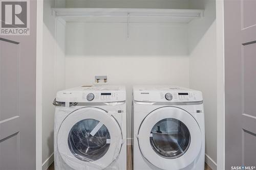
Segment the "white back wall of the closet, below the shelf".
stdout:
<path fill-rule="evenodd" d="M 127 138 L 131 138 L 132 85 L 189 86 L 187 26 L 169 23 L 67 23 L 66 87 L 107 75 L 127 88 Z"/>

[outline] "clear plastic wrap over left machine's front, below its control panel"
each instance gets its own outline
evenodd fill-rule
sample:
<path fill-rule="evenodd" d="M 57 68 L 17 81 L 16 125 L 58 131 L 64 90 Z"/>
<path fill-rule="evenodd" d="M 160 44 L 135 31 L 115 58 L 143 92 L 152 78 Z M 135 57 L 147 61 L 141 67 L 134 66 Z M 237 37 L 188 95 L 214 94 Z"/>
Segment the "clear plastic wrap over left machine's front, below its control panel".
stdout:
<path fill-rule="evenodd" d="M 126 106 L 56 106 L 55 170 L 126 169 Z"/>

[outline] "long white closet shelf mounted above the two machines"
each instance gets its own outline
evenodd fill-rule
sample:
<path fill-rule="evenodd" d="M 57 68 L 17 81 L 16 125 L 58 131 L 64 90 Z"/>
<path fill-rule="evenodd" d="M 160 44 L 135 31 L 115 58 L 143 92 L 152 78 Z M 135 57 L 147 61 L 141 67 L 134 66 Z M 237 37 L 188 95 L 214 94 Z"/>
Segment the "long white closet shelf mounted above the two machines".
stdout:
<path fill-rule="evenodd" d="M 52 8 L 55 15 L 67 22 L 166 22 L 189 23 L 203 17 L 199 9 L 138 8 Z"/>

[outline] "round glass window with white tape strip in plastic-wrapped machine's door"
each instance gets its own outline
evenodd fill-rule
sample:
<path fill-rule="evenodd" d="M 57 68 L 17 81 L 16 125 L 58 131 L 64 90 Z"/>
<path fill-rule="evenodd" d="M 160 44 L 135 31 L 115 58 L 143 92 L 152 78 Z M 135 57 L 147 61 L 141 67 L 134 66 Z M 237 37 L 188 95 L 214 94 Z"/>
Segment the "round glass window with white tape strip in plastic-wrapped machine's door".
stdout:
<path fill-rule="evenodd" d="M 71 153 L 82 161 L 100 159 L 110 147 L 109 130 L 95 119 L 83 119 L 70 130 L 68 145 Z"/>

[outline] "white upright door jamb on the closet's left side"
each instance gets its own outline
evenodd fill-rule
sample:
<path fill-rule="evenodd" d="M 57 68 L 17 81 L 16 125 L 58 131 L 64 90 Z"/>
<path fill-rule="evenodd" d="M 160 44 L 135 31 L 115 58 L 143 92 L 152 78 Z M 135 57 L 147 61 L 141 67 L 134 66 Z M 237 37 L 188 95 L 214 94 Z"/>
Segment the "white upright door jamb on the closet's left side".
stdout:
<path fill-rule="evenodd" d="M 36 169 L 42 169 L 42 28 L 44 1 L 37 1 L 36 13 Z"/>

